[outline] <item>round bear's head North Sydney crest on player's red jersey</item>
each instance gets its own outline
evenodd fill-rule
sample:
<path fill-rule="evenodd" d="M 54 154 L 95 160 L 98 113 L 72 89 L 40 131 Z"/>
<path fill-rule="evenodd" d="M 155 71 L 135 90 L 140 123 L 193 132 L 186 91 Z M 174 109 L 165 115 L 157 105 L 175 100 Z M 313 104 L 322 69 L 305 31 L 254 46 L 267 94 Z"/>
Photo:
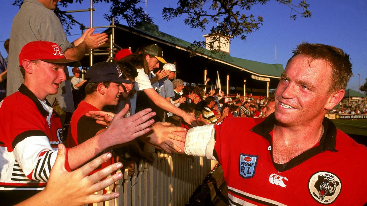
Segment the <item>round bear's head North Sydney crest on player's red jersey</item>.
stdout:
<path fill-rule="evenodd" d="M 308 188 L 316 202 L 327 205 L 337 199 L 342 183 L 339 177 L 331 172 L 317 172 L 310 177 Z"/>

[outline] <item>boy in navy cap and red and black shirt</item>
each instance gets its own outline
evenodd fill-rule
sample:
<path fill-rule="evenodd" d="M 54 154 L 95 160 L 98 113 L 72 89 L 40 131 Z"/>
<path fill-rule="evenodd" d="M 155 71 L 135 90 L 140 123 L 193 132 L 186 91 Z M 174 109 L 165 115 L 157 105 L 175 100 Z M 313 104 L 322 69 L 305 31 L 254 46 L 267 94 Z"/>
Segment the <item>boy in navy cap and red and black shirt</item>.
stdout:
<path fill-rule="evenodd" d="M 131 91 L 138 73 L 130 63 L 124 62 L 120 65 L 121 67 L 111 62 L 99 62 L 88 69 L 86 98 L 80 102 L 70 121 L 75 145 L 83 143 L 106 129 L 105 126 L 97 124 L 94 119 L 87 117 L 85 114 L 88 111 L 101 111 L 104 106 L 117 105 L 122 92 Z"/>

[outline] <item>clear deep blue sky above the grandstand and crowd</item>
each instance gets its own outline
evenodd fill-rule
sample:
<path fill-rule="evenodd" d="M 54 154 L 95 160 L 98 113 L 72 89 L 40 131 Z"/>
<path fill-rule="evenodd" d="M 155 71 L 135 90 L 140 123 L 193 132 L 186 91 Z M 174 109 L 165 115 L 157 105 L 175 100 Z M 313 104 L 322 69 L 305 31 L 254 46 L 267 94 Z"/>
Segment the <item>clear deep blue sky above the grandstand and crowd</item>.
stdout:
<path fill-rule="evenodd" d="M 293 0 L 298 4 L 299 0 Z M 171 5 L 175 7 L 176 0 L 148 0 L 147 13 L 153 17 L 153 22 L 159 26 L 161 32 L 193 42 L 203 40 L 203 34 L 199 29 L 190 29 L 183 22 L 183 17 L 166 21 L 162 18 L 163 7 Z M 0 7 L 0 52 L 5 57 L 6 51 L 3 42 L 10 37 L 11 22 L 18 7 L 12 5 L 13 0 L 2 2 Z M 312 12 L 311 18 L 298 16 L 297 20 L 290 19 L 290 9 L 275 1 L 266 5 L 255 5 L 246 14 L 261 15 L 264 18 L 263 25 L 246 40 L 233 39 L 230 45 L 230 55 L 264 63 L 275 63 L 275 45 L 277 45 L 277 63 L 285 67 L 291 57 L 292 48 L 302 41 L 309 43 L 322 43 L 334 45 L 343 49 L 350 55 L 353 63 L 354 76 L 350 79 L 347 89 L 358 91 L 358 75 L 361 85 L 367 78 L 367 1 L 365 0 L 307 0 Z M 141 4 L 144 8 L 145 4 Z M 68 10 L 85 9 L 90 7 L 90 1 L 84 0 L 83 4 L 74 3 Z M 103 14 L 109 9 L 105 3 L 94 4 L 97 11 L 94 12 L 94 26 L 109 25 L 103 18 Z M 61 8 L 61 10 L 64 10 Z M 88 12 L 74 13 L 77 21 L 90 25 Z M 123 21 L 120 23 L 125 24 Z M 211 27 L 211 26 L 208 26 Z M 101 31 L 101 29 L 99 29 Z M 79 34 L 79 26 L 71 31 L 71 34 Z M 68 36 L 73 41 L 77 35 Z"/>

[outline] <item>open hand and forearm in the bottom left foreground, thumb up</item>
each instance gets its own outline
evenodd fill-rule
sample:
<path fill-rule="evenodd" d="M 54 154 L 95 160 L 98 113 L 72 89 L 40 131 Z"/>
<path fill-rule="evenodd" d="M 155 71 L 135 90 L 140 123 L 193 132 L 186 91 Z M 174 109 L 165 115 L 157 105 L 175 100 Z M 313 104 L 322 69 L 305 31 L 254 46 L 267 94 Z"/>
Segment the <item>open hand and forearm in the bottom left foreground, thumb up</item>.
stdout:
<path fill-rule="evenodd" d="M 66 148 L 63 144 L 59 144 L 58 148 L 57 158 L 51 169 L 50 178 L 48 179 L 46 188 L 40 193 L 17 204 L 17 206 L 78 206 L 88 203 L 108 201 L 119 196 L 119 193 L 117 192 L 104 195 L 96 195 L 94 192 L 100 191 L 118 179 L 121 179 L 122 173 L 117 173 L 108 179 L 99 181 L 101 178 L 106 177 L 113 171 L 120 169 L 122 167 L 120 162 L 109 165 L 108 167 L 88 176 L 88 173 L 110 159 L 112 157 L 111 153 L 103 154 L 98 158 L 95 158 L 93 161 L 88 162 L 80 169 L 68 172 L 65 169 Z"/>

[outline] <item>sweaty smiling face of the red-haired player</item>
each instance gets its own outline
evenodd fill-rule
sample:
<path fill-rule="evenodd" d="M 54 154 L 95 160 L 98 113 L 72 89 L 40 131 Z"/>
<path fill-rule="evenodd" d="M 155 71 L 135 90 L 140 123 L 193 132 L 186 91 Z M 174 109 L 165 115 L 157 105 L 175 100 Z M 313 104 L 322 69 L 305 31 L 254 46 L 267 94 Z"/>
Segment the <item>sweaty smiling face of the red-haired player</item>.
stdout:
<path fill-rule="evenodd" d="M 291 126 L 322 119 L 326 107 L 330 107 L 331 74 L 332 68 L 326 61 L 295 56 L 281 75 L 275 92 L 277 121 Z"/>

